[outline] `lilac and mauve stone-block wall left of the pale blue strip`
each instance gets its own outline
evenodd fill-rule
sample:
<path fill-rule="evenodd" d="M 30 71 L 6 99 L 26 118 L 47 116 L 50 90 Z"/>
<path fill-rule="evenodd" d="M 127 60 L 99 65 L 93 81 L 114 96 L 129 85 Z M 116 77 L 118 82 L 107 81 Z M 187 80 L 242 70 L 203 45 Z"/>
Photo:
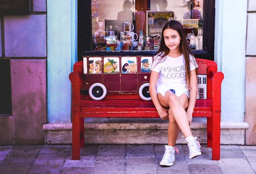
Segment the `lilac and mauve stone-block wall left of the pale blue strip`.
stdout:
<path fill-rule="evenodd" d="M 34 0 L 30 15 L 5 15 L 1 59 L 10 59 L 12 115 L 0 116 L 0 144 L 43 144 L 47 122 L 46 0 Z"/>

